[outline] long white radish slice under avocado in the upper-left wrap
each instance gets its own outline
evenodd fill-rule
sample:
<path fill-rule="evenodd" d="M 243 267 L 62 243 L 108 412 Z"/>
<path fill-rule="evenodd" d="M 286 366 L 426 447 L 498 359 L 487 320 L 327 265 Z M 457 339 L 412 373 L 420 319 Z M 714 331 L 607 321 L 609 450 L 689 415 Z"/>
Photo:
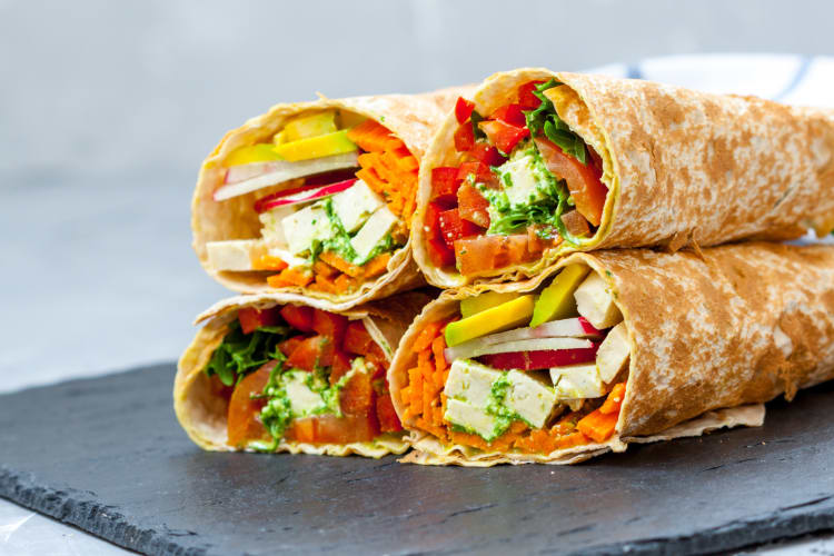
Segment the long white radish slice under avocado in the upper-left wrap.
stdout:
<path fill-rule="evenodd" d="M 312 176 L 315 173 L 327 172 L 330 170 L 340 170 L 342 168 L 355 168 L 359 166 L 356 152 L 346 152 L 345 155 L 334 155 L 331 157 L 311 158 L 309 160 L 300 160 L 298 162 L 290 162 L 288 160 L 275 160 L 272 162 L 256 162 L 257 165 L 264 163 L 264 168 L 269 168 L 269 173 L 256 176 L 254 178 L 245 179 L 244 181 L 237 181 L 234 183 L 227 183 L 215 191 L 216 201 L 225 201 L 232 197 L 239 197 L 241 195 L 250 193 L 262 189 L 265 187 L 275 186 L 284 181 L 288 181 L 296 178 L 304 178 L 306 176 Z M 251 166 L 251 165 L 245 165 Z M 231 171 L 234 168 L 229 168 Z M 244 175 L 244 170 L 236 170 L 236 173 Z M 226 179 L 229 179 L 229 172 L 226 173 Z"/>

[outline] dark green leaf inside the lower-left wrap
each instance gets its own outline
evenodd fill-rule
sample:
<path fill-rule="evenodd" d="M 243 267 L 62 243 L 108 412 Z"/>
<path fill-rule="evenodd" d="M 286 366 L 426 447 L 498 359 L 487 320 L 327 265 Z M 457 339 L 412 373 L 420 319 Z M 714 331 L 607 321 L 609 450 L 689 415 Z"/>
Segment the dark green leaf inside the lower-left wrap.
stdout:
<path fill-rule="evenodd" d="M 240 322 L 234 320 L 229 324 L 229 332 L 211 355 L 205 373 L 208 376 L 217 375 L 222 384 L 232 386 L 265 363 L 282 358 L 278 344 L 289 332 L 289 327 L 269 326 L 244 334 Z"/>

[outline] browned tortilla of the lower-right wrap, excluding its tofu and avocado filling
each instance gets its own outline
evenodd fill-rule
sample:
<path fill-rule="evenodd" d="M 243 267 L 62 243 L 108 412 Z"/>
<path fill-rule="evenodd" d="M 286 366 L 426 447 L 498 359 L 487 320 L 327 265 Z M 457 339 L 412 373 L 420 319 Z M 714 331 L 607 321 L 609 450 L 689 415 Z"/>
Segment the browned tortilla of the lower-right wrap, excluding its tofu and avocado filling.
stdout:
<path fill-rule="evenodd" d="M 490 453 L 444 445 L 406 418 L 400 393 L 415 367 L 413 345 L 458 300 L 487 289 L 525 292 L 582 262 L 610 288 L 628 330 L 628 378 L 614 436 L 552 454 Z M 403 337 L 389 369 L 395 407 L 423 464 L 575 463 L 628 443 L 758 425 L 764 401 L 834 377 L 834 246 L 748 242 L 676 254 L 574 254 L 534 279 L 474 285 L 429 304 Z"/>

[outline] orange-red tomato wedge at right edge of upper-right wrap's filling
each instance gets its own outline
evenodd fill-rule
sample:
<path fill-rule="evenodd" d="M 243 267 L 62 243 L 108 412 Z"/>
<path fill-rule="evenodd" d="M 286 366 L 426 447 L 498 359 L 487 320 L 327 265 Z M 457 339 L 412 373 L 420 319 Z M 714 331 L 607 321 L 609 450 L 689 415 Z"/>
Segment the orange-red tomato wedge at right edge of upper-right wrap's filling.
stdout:
<path fill-rule="evenodd" d="M 567 188 L 579 211 L 592 225 L 599 226 L 608 188 L 599 180 L 593 165 L 584 165 L 543 137 L 535 139 L 545 166 L 557 178 L 567 182 Z"/>

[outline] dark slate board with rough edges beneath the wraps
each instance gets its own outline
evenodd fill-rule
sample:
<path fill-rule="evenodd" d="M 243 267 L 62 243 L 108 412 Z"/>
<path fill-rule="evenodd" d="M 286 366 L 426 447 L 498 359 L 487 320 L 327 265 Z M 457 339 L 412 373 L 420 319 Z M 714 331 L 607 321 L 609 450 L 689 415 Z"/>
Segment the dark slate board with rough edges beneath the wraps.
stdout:
<path fill-rule="evenodd" d="M 574 467 L 207 454 L 173 366 L 0 396 L 0 496 L 151 554 L 697 553 L 834 527 L 834 386 Z"/>

